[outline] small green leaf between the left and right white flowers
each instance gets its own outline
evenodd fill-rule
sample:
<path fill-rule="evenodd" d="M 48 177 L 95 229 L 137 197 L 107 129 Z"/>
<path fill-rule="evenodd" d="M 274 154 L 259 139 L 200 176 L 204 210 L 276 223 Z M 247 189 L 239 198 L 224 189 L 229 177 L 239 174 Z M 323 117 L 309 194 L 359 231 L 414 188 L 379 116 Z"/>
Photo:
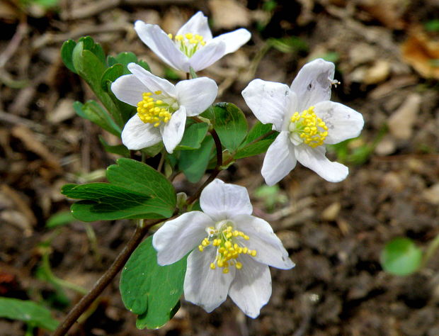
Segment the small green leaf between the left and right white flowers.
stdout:
<path fill-rule="evenodd" d="M 247 121 L 244 113 L 232 103 L 217 103 L 214 108 L 214 128 L 221 143 L 230 152 L 241 145 L 247 134 Z"/>

